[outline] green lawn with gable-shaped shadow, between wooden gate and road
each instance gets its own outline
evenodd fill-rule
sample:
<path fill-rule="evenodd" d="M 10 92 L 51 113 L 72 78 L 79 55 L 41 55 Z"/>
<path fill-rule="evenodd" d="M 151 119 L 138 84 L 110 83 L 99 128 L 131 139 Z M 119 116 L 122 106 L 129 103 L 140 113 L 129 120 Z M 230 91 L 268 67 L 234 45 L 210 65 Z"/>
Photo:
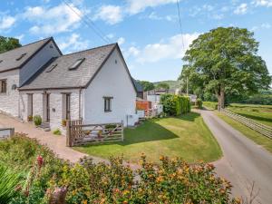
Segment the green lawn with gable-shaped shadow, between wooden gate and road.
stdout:
<path fill-rule="evenodd" d="M 109 158 L 123 155 L 135 162 L 145 153 L 149 160 L 158 161 L 160 155 L 182 157 L 189 162 L 218 160 L 222 152 L 218 142 L 199 113 L 190 112 L 174 118 L 145 121 L 135 129 L 124 131 L 124 141 L 74 148 L 93 156 Z"/>

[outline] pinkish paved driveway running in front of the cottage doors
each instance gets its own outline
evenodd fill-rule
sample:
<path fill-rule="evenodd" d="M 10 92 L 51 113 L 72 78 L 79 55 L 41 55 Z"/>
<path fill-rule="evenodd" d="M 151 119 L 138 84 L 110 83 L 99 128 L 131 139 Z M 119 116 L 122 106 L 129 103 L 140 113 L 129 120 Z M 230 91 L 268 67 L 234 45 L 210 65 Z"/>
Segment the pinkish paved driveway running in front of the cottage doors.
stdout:
<path fill-rule="evenodd" d="M 59 158 L 70 160 L 72 162 L 78 161 L 84 156 L 89 156 L 79 151 L 74 151 L 72 148 L 66 147 L 66 138 L 61 135 L 54 135 L 50 131 L 43 131 L 34 127 L 28 122 L 17 121 L 14 118 L 0 113 L 0 127 L 14 127 L 15 132 L 23 132 L 27 137 L 37 139 L 41 144 L 48 146 L 54 151 Z M 89 156 L 90 157 L 90 156 Z M 94 162 L 107 161 L 102 158 L 91 157 Z"/>

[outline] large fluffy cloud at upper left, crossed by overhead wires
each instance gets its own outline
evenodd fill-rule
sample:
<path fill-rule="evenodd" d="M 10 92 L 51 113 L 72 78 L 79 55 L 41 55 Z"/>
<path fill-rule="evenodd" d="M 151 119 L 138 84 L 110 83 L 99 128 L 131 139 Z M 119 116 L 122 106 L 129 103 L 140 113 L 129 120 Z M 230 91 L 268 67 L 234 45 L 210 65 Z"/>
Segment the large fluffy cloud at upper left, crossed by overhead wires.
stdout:
<path fill-rule="evenodd" d="M 74 5 L 70 5 L 73 10 L 83 15 Z M 33 34 L 57 34 L 72 31 L 78 27 L 81 18 L 76 15 L 67 5 L 61 4 L 50 8 L 42 6 L 27 7 L 23 17 L 35 25 L 30 28 Z"/>

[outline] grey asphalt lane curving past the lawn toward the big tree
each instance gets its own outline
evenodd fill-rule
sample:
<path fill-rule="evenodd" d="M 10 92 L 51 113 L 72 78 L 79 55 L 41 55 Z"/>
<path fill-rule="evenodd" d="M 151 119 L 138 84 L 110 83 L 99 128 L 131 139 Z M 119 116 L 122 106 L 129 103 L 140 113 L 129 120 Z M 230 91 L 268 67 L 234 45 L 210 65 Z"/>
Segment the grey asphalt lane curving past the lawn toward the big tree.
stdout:
<path fill-rule="evenodd" d="M 200 113 L 223 151 L 223 158 L 214 164 L 219 176 L 233 185 L 232 194 L 248 199 L 248 203 L 257 195 L 252 203 L 271 204 L 272 154 L 219 119 L 215 113 Z"/>

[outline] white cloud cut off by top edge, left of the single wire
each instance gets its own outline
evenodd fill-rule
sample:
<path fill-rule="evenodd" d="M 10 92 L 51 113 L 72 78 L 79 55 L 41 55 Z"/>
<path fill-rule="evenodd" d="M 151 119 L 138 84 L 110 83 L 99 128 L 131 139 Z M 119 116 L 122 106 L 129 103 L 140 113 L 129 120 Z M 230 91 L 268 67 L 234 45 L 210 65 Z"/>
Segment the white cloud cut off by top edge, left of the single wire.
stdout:
<path fill-rule="evenodd" d="M 131 15 L 135 15 L 144 11 L 147 7 L 156 7 L 176 2 L 177 0 L 127 0 L 127 10 Z"/>

